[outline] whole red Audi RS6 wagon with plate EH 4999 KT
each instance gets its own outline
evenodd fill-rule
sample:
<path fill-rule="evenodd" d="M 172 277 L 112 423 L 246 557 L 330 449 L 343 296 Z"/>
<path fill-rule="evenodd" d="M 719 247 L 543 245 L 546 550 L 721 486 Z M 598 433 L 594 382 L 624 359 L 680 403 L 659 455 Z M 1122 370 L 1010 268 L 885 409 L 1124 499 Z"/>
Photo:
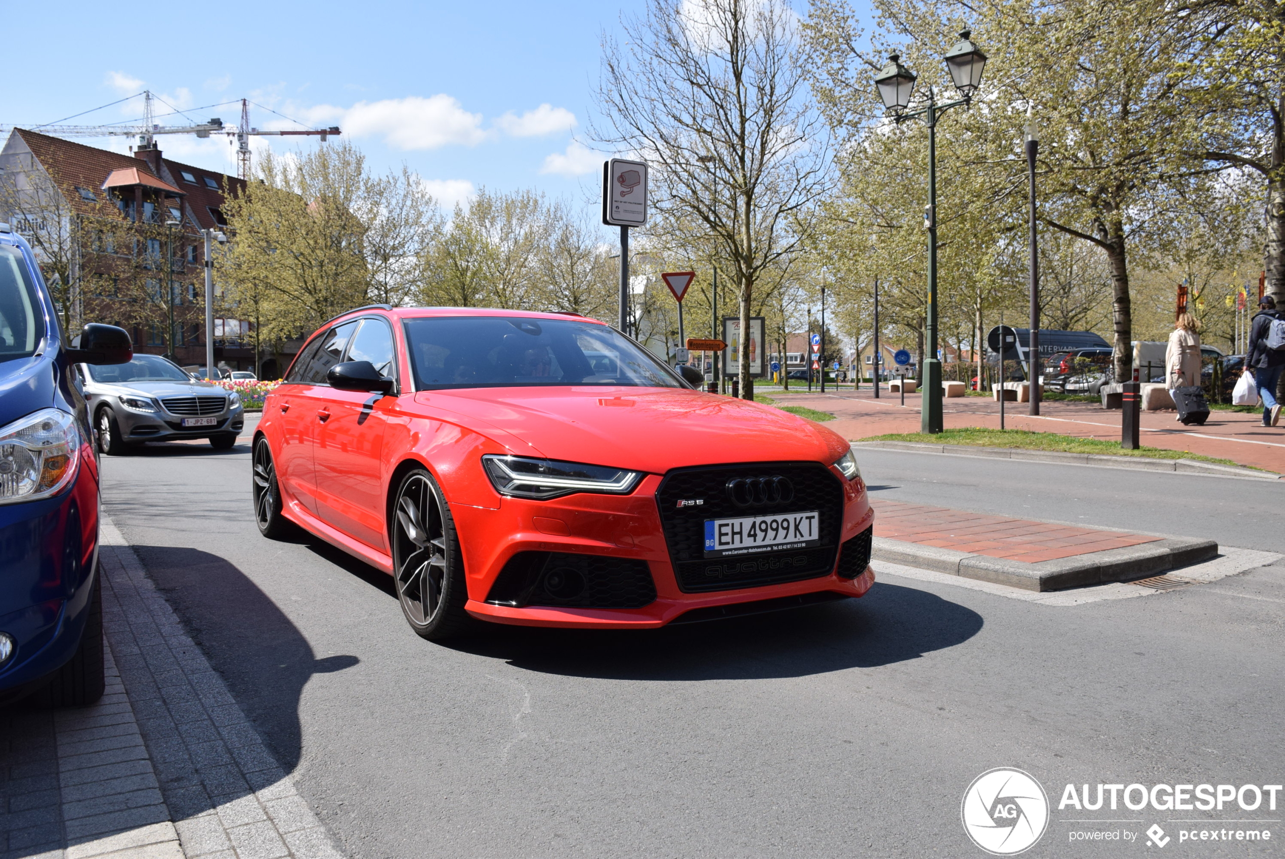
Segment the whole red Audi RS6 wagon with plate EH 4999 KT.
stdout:
<path fill-rule="evenodd" d="M 642 629 L 869 591 L 848 443 L 682 372 L 569 313 L 352 311 L 263 406 L 260 532 L 289 520 L 392 574 L 430 639 L 470 616 Z"/>

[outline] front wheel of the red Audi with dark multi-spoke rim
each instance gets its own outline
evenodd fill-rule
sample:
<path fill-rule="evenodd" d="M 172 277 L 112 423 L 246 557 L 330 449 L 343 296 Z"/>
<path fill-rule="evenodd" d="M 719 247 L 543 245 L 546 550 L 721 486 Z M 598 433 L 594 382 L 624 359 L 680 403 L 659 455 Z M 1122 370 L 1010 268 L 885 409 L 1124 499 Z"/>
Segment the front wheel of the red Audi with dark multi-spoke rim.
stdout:
<path fill-rule="evenodd" d="M 406 623 L 421 638 L 445 641 L 477 628 L 464 610 L 464 553 L 450 505 L 425 469 L 402 478 L 389 521 L 393 583 Z"/>

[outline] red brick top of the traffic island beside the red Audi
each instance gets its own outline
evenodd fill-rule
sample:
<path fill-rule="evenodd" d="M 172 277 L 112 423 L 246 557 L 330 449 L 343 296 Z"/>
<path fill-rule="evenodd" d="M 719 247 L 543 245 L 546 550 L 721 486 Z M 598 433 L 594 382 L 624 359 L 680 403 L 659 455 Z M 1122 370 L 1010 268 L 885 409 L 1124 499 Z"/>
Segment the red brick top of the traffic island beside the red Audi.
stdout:
<path fill-rule="evenodd" d="M 965 510 L 873 499 L 875 537 L 1038 564 L 1154 543 L 1160 537 L 1055 525 Z"/>

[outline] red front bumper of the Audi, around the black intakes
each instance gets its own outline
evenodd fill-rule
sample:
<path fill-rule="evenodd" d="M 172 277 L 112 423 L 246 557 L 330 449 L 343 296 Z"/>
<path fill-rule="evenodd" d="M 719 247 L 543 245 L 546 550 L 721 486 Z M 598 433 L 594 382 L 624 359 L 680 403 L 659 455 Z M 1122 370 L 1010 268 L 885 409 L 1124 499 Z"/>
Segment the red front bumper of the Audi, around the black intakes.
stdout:
<path fill-rule="evenodd" d="M 822 592 L 860 597 L 874 583 L 869 566 L 855 578 L 840 577 L 837 552 L 829 574 L 727 591 L 685 592 L 675 574 L 657 506 L 660 480 L 648 476 L 630 496 L 583 493 L 545 502 L 506 497 L 499 510 L 452 503 L 451 515 L 465 535 L 464 569 L 469 591 L 465 610 L 482 620 L 515 625 L 648 629 L 699 610 L 707 610 L 702 615 L 717 614 L 721 606 L 765 602 L 768 607 L 766 601 L 780 600 L 780 607 L 786 607 L 793 597 Z M 856 538 L 873 523 L 874 511 L 865 487 L 860 479 L 847 484 L 839 542 Z M 522 552 L 645 561 L 655 584 L 655 598 L 641 607 L 626 609 L 504 605 L 495 600 L 496 580 L 505 565 Z"/>

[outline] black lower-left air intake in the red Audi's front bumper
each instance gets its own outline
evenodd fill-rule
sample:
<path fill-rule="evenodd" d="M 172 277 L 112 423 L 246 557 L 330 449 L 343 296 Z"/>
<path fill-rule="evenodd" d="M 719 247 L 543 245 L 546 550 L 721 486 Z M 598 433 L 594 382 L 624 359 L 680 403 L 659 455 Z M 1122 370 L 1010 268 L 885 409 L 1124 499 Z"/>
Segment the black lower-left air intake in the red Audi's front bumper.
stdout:
<path fill-rule="evenodd" d="M 486 601 L 504 606 L 641 609 L 655 602 L 655 583 L 646 561 L 518 552 L 500 570 Z"/>

